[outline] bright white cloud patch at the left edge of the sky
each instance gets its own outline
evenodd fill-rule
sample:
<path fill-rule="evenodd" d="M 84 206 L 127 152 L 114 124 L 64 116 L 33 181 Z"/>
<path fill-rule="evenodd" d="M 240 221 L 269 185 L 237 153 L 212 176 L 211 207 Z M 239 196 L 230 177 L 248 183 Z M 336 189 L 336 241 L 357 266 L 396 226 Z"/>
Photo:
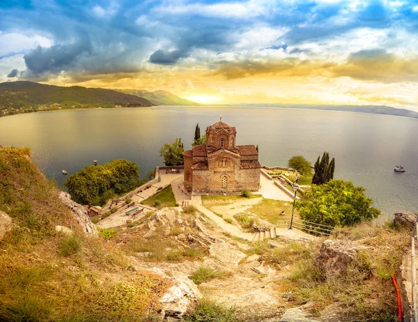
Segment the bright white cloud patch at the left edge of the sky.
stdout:
<path fill-rule="evenodd" d="M 0 58 L 10 54 L 26 53 L 40 45 L 51 47 L 52 40 L 42 36 L 24 36 L 20 33 L 1 33 L 0 31 Z"/>

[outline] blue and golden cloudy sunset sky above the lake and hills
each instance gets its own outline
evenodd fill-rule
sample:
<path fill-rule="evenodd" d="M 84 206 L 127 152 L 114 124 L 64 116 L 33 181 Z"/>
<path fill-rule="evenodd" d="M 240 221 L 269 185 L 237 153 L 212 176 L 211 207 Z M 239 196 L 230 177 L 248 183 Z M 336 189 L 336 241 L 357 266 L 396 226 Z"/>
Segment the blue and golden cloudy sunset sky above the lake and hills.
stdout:
<path fill-rule="evenodd" d="M 0 0 L 0 82 L 418 111 L 418 0 Z"/>

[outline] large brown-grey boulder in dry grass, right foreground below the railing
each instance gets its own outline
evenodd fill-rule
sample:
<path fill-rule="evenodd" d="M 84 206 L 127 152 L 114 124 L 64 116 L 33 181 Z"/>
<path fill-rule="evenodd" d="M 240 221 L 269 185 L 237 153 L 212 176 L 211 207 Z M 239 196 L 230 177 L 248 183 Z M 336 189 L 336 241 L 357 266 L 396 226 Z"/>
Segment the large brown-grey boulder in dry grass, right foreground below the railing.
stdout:
<path fill-rule="evenodd" d="M 327 239 L 320 247 L 316 257 L 316 266 L 327 278 L 344 275 L 350 263 L 355 261 L 357 253 L 367 247 L 355 245 L 347 240 Z"/>

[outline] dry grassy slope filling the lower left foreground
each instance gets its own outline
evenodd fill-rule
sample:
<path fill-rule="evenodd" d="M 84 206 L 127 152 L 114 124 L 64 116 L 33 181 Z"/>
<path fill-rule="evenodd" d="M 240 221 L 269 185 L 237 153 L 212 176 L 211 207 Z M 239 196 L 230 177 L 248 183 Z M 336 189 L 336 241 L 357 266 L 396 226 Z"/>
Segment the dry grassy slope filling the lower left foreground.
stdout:
<path fill-rule="evenodd" d="M 0 209 L 13 217 L 0 242 L 1 321 L 144 321 L 157 315 L 170 282 L 133 272 L 102 238 L 87 238 L 54 183 L 26 159 L 0 150 Z M 56 224 L 73 236 L 56 233 Z"/>

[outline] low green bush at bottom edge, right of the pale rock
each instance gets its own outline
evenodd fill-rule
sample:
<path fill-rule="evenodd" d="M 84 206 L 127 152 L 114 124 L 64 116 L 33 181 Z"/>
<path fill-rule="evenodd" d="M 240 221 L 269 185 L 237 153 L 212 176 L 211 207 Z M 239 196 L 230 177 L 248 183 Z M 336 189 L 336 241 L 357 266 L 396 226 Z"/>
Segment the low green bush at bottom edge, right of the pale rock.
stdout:
<path fill-rule="evenodd" d="M 224 305 L 210 300 L 199 300 L 196 307 L 184 317 L 185 322 L 233 322 L 235 309 L 229 309 Z"/>

